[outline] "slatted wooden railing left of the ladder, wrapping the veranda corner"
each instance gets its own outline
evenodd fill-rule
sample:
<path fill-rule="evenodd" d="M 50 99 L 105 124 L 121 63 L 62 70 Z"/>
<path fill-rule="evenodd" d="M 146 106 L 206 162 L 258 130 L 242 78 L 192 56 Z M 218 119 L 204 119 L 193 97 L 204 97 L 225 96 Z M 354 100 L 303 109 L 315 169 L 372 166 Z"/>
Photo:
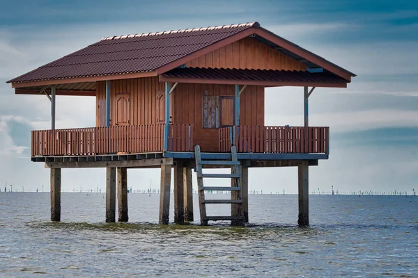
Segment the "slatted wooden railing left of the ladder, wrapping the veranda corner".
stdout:
<path fill-rule="evenodd" d="M 32 156 L 91 156 L 162 152 L 164 124 L 31 131 Z M 168 150 L 193 149 L 193 126 L 170 124 Z"/>

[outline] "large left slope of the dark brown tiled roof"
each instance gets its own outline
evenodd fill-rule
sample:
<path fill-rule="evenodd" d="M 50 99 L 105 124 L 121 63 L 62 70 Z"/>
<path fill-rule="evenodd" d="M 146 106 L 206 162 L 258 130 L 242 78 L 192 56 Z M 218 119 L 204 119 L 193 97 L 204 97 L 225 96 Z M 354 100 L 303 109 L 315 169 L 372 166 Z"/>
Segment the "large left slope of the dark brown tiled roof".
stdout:
<path fill-rule="evenodd" d="M 103 38 L 8 83 L 150 72 L 257 22 Z"/>

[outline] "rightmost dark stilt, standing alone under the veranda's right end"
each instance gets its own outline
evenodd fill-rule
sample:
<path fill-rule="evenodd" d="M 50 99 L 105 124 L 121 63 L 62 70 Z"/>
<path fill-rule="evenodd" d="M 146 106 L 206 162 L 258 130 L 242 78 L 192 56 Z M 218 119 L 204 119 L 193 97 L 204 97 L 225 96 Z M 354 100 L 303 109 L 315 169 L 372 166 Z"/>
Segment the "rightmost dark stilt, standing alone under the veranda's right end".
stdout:
<path fill-rule="evenodd" d="M 309 161 L 300 161 L 297 165 L 299 187 L 299 227 L 309 225 Z"/>

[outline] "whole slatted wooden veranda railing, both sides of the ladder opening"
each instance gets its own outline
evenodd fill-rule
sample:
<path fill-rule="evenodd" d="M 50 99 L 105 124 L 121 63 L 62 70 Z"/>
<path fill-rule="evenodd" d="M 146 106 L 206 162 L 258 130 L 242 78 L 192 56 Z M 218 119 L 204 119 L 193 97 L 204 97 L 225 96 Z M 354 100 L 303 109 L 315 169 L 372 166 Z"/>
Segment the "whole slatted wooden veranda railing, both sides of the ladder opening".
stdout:
<path fill-rule="evenodd" d="M 99 126 L 82 129 L 31 131 L 31 156 L 102 156 L 194 152 L 194 126 L 169 124 L 164 150 L 165 124 Z M 219 153 L 329 154 L 328 127 L 229 126 L 219 129 Z"/>

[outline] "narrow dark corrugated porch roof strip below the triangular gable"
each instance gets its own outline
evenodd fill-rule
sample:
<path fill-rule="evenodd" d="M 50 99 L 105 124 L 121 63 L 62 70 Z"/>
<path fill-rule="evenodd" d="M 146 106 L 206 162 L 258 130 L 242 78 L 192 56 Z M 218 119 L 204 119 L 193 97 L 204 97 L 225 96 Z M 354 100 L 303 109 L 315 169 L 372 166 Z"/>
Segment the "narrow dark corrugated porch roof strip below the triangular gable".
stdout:
<path fill-rule="evenodd" d="M 347 83 L 346 79 L 326 72 L 297 72 L 289 70 L 238 70 L 187 67 L 162 74 L 167 79 L 210 79 L 211 81 L 274 81 L 293 83 Z M 245 82 L 244 82 L 245 83 Z"/>

